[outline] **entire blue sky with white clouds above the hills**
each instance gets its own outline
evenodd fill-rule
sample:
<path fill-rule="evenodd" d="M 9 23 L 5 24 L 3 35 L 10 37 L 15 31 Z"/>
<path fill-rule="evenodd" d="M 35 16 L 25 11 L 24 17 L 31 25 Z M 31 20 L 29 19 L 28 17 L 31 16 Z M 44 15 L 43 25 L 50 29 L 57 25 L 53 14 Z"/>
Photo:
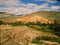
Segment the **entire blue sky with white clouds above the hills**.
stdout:
<path fill-rule="evenodd" d="M 21 15 L 37 11 L 60 11 L 60 2 L 56 0 L 0 0 L 0 12 Z"/>

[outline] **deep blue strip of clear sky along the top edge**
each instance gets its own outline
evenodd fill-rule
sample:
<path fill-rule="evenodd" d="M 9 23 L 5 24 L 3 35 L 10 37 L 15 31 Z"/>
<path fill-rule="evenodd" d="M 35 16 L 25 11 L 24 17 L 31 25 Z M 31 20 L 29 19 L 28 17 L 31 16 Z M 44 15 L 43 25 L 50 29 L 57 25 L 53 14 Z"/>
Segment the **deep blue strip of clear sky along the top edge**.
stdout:
<path fill-rule="evenodd" d="M 20 1 L 22 1 L 23 3 L 34 3 L 34 4 L 38 4 L 38 5 L 40 5 L 40 4 L 42 4 L 42 3 L 48 3 L 49 5 L 52 5 L 52 4 L 54 4 L 54 5 L 60 5 L 60 2 L 56 2 L 56 3 L 52 3 L 51 4 L 51 1 L 49 2 L 47 2 L 47 1 L 44 1 L 44 0 L 20 0 Z M 53 1 L 54 2 L 54 1 Z"/>

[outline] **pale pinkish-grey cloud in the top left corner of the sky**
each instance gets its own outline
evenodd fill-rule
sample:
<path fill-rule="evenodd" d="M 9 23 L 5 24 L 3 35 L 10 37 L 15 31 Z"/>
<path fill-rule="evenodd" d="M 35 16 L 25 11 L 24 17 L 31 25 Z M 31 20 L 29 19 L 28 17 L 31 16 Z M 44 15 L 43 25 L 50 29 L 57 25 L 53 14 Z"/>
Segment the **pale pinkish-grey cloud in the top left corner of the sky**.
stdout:
<path fill-rule="evenodd" d="M 5 7 L 16 7 L 20 3 L 18 0 L 0 0 L 0 5 L 4 5 Z"/>

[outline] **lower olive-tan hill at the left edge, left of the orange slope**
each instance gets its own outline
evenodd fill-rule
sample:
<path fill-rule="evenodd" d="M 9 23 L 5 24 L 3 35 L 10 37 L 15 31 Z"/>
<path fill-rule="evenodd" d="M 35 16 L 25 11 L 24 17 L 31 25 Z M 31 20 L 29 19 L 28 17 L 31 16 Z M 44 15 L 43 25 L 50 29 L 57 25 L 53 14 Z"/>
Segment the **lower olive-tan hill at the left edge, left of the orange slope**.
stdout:
<path fill-rule="evenodd" d="M 6 12 L 0 12 L 0 20 L 11 22 L 18 17 L 20 17 L 20 16 L 10 14 L 10 13 L 6 13 Z"/>

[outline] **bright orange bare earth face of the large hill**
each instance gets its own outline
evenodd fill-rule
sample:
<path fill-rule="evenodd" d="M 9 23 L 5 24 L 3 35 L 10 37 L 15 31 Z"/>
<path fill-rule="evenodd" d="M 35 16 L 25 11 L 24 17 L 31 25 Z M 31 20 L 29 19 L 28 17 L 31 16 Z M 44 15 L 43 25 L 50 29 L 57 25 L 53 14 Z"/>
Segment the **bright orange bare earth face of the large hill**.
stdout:
<path fill-rule="evenodd" d="M 48 20 L 47 18 L 44 18 L 40 15 L 26 15 L 24 17 L 18 18 L 15 21 L 22 21 L 22 22 L 41 22 L 41 23 L 53 23 L 52 21 Z"/>

